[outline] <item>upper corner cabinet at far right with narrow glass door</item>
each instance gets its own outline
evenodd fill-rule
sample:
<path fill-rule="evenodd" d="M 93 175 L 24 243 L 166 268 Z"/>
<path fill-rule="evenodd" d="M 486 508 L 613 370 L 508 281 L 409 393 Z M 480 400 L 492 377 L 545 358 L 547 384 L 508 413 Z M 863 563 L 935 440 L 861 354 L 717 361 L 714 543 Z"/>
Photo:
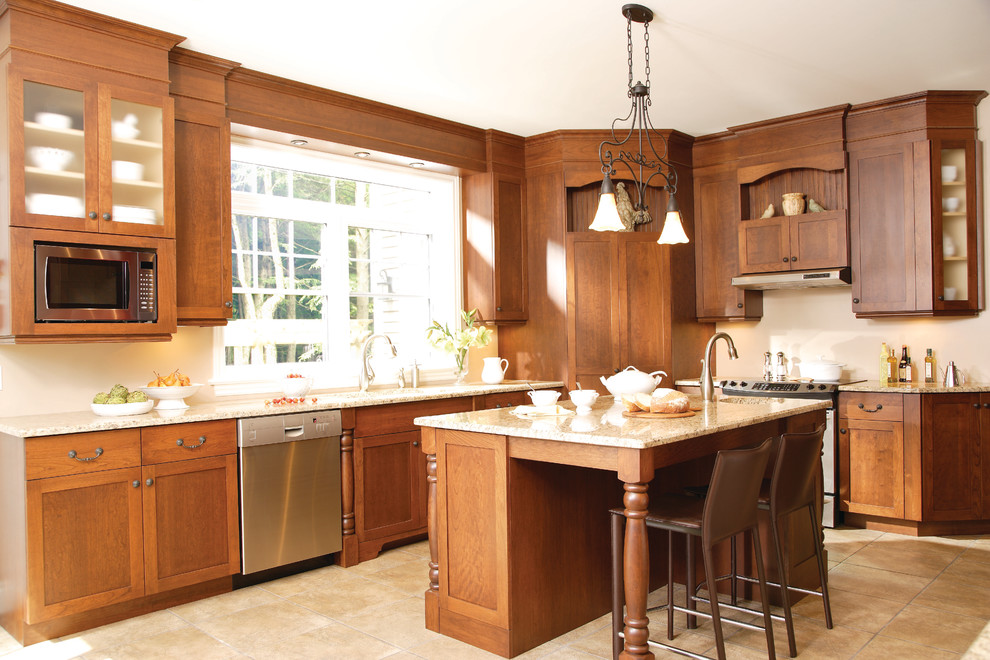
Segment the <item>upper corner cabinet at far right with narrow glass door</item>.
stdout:
<path fill-rule="evenodd" d="M 921 92 L 850 110 L 856 316 L 982 311 L 983 158 L 976 106 L 985 96 Z M 942 180 L 943 166 L 955 168 L 953 180 Z M 958 202 L 943 201 L 949 199 Z"/>

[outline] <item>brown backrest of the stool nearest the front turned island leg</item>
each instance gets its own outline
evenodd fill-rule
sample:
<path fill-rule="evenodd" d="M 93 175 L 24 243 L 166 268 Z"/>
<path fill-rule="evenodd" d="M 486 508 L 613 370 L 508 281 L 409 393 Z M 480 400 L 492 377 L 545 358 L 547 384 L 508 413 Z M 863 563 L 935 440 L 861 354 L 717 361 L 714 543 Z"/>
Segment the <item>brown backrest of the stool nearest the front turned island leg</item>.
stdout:
<path fill-rule="evenodd" d="M 720 451 L 715 456 L 701 523 L 706 543 L 717 543 L 756 525 L 760 485 L 772 446 L 773 438 L 767 438 L 758 447 Z"/>

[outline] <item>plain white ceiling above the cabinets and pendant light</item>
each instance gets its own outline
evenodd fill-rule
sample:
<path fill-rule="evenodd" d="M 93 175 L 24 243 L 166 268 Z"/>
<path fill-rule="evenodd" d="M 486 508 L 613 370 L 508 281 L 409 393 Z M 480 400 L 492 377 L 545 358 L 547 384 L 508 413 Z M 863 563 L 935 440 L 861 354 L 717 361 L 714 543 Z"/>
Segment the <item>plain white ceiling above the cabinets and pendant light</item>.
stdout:
<path fill-rule="evenodd" d="M 66 0 L 63 0 L 66 1 Z M 625 116 L 623 2 L 67 0 L 266 73 L 522 136 Z M 658 128 L 990 88 L 988 0 L 647 0 Z M 636 78 L 642 26 L 634 24 Z"/>

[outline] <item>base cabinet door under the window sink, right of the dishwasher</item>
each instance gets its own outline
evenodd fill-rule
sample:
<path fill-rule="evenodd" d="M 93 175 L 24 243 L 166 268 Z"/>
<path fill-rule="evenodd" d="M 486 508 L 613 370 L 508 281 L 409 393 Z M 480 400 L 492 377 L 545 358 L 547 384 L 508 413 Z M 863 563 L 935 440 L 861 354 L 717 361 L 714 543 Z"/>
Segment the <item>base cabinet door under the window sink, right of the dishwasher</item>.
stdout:
<path fill-rule="evenodd" d="M 420 432 L 354 440 L 354 514 L 358 541 L 426 525 L 426 455 Z"/>

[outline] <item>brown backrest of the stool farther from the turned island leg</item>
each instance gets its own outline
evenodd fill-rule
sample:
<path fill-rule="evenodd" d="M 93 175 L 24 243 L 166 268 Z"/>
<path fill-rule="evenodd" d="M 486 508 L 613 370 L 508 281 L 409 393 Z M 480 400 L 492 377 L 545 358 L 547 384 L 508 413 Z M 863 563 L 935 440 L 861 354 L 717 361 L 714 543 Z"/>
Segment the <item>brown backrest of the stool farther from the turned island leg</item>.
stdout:
<path fill-rule="evenodd" d="M 770 480 L 770 507 L 775 516 L 807 506 L 815 498 L 821 474 L 822 424 L 810 433 L 783 433 Z"/>

